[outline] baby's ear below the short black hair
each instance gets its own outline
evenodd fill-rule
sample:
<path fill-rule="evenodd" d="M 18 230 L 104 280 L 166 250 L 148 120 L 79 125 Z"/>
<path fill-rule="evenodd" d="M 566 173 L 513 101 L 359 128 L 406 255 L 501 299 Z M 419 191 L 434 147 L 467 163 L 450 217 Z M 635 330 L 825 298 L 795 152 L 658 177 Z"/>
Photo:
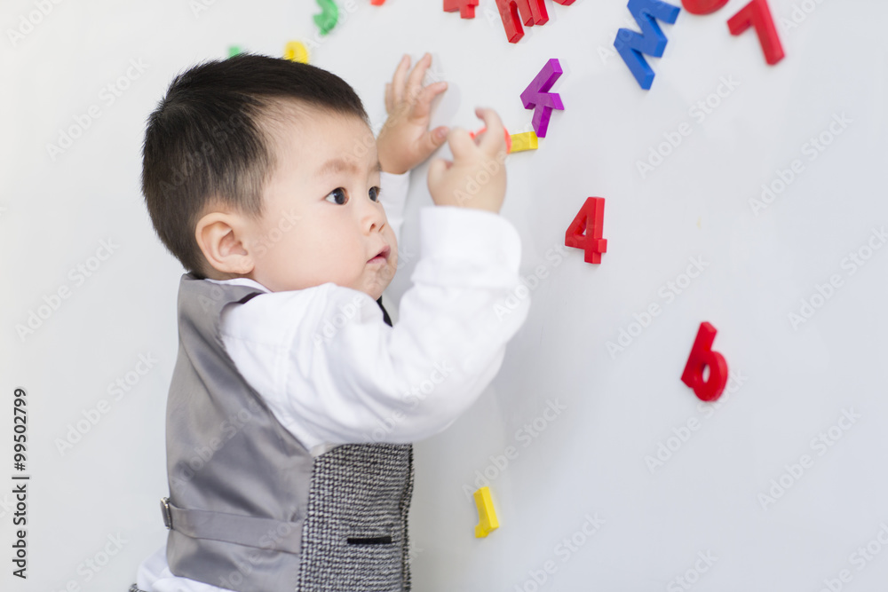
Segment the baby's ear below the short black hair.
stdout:
<path fill-rule="evenodd" d="M 198 220 L 194 239 L 217 272 L 242 275 L 253 271 L 255 262 L 244 244 L 244 222 L 242 216 L 226 212 L 211 212 Z"/>

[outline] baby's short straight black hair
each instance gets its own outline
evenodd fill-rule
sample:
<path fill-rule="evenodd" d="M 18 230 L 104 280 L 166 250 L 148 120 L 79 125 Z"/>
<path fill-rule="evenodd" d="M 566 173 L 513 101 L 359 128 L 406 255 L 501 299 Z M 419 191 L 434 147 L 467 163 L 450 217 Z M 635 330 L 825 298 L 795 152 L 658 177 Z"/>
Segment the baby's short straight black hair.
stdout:
<path fill-rule="evenodd" d="M 262 190 L 276 166 L 274 122 L 292 113 L 287 107 L 357 116 L 370 126 L 361 99 L 339 76 L 250 53 L 177 75 L 148 116 L 142 193 L 157 235 L 188 272 L 206 277 L 194 238 L 204 209 L 262 215 Z"/>

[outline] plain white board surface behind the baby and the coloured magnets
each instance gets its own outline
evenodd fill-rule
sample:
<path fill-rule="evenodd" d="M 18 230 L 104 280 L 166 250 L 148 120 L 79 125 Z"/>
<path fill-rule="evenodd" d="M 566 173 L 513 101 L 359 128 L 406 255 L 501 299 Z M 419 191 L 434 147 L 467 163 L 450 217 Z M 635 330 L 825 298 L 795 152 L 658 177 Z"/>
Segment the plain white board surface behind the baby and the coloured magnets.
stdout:
<path fill-rule="evenodd" d="M 558 58 L 564 69 L 553 91 L 566 108 L 552 115 L 539 150 L 509 157 L 502 210 L 522 237 L 522 273 L 542 265 L 546 277 L 531 290 L 530 317 L 496 381 L 470 413 L 416 446 L 416 589 L 678 590 L 686 588 L 673 579 L 706 553 L 717 559 L 694 590 L 819 590 L 842 570 L 851 578 L 843 589 L 881 589 L 888 577 L 888 549 L 876 539 L 888 524 L 888 249 L 854 272 L 847 257 L 888 223 L 888 7 L 771 0 L 778 20 L 802 4 L 813 9 L 804 20 L 796 12 L 795 28 L 778 24 L 787 57 L 774 67 L 752 31 L 728 33 L 726 20 L 745 0 L 709 16 L 682 11 L 663 26 L 669 43 L 662 59 L 649 59 L 656 78 L 642 91 L 621 59 L 599 53 L 630 21 L 622 0 L 549 2 L 550 22 L 526 29 L 517 44 L 506 42 L 493 0 L 481 0 L 475 20 L 442 12 L 439 0 L 354 2 L 313 63 L 352 83 L 377 124 L 385 119 L 385 82 L 404 52 L 417 59 L 432 51 L 450 84 L 432 124 L 470 129 L 480 127 L 477 106 L 496 108 L 510 130 L 522 129 L 531 112 L 520 92 L 546 60 Z M 281 55 L 288 40 L 314 35 L 318 9 L 279 0 L 217 0 L 196 16 L 172 0 L 52 6 L 14 45 L 6 30 L 18 28 L 34 2 L 5 2 L 0 20 L 0 245 L 8 280 L 0 450 L 12 458 L 12 391 L 23 386 L 32 475 L 29 579 L 12 578 L 4 560 L 0 588 L 55 591 L 74 581 L 123 590 L 165 537 L 157 500 L 166 493 L 163 413 L 181 273 L 156 240 L 139 193 L 145 119 L 179 71 L 225 57 L 231 44 Z M 102 89 L 131 60 L 146 69 L 109 104 Z M 689 109 L 728 77 L 739 85 L 698 121 Z M 91 105 L 99 119 L 53 160 L 46 145 Z M 803 145 L 828 132 L 836 114 L 851 123 L 810 160 Z M 690 136 L 642 178 L 637 162 L 683 122 Z M 754 215 L 749 199 L 795 159 L 804 171 Z M 418 210 L 432 204 L 424 166 L 412 182 L 401 249 L 416 251 Z M 584 263 L 578 249 L 547 257 L 588 196 L 607 199 L 602 263 Z M 103 240 L 117 245 L 114 253 L 75 280 L 69 270 L 90 263 Z M 702 258 L 705 271 L 668 302 L 661 288 L 691 257 Z M 409 287 L 414 264 L 399 272 L 389 303 Z M 841 286 L 793 328 L 788 314 L 833 274 Z M 22 340 L 15 326 L 63 286 L 70 296 Z M 607 342 L 652 303 L 662 313 L 611 356 Z M 742 376 L 718 407 L 699 404 L 679 381 L 703 320 L 718 328 L 714 347 Z M 107 385 L 131 372 L 140 354 L 155 366 L 122 398 L 110 397 Z M 59 453 L 57 438 L 100 399 L 109 401 L 107 414 Z M 537 437 L 519 431 L 556 400 L 566 410 Z M 818 445 L 813 438 L 829 433 L 843 410 L 860 417 L 833 430 L 841 438 L 832 446 Z M 649 470 L 646 456 L 692 418 L 699 429 Z M 491 457 L 507 446 L 517 457 L 495 470 Z M 784 477 L 789 490 L 763 508 L 759 494 L 803 454 L 813 466 Z M 477 515 L 464 485 L 473 490 L 476 471 L 485 470 L 501 527 L 475 539 Z M 0 491 L 12 489 L 12 472 L 4 471 Z M 0 501 L 5 556 L 12 495 Z M 604 522 L 585 541 L 577 535 L 583 544 L 568 554 L 558 545 L 587 515 Z M 118 533 L 123 549 L 91 572 L 83 562 Z M 870 541 L 872 560 L 852 555 Z M 531 572 L 542 579 L 548 561 L 557 571 L 538 586 Z"/>

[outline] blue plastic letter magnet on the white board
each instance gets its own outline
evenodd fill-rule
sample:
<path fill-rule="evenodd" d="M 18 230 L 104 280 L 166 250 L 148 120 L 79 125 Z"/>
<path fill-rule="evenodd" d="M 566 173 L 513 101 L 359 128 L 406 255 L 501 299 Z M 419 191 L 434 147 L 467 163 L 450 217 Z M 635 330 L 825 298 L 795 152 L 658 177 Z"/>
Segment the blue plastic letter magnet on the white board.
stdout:
<path fill-rule="evenodd" d="M 678 18 L 681 9 L 672 4 L 666 4 L 661 0 L 629 0 L 629 12 L 638 22 L 641 33 L 628 28 L 621 28 L 616 32 L 614 47 L 620 53 L 620 57 L 629 67 L 632 75 L 638 80 L 641 88 L 647 90 L 654 83 L 654 70 L 647 65 L 647 55 L 659 58 L 666 49 L 666 36 L 663 35 L 657 19 L 668 22 L 670 25 Z"/>

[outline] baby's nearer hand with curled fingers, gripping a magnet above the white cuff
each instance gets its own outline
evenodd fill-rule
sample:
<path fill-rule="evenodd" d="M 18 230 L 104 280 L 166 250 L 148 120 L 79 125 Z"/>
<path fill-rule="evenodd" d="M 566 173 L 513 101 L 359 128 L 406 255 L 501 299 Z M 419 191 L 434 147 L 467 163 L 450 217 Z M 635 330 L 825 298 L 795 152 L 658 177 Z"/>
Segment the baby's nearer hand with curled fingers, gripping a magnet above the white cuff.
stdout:
<path fill-rule="evenodd" d="M 486 209 L 498 213 L 505 198 L 505 130 L 493 109 L 475 109 L 487 124 L 476 144 L 469 132 L 450 130 L 453 162 L 436 158 L 429 166 L 429 193 L 439 206 Z"/>

